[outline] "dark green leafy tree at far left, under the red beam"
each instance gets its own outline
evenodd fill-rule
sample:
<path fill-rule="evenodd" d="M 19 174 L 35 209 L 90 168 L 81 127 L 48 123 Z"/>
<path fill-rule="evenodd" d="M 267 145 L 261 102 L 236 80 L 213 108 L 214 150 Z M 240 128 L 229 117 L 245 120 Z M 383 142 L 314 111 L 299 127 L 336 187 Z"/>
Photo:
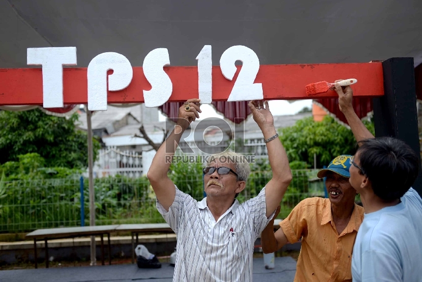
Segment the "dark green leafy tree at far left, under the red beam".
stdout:
<path fill-rule="evenodd" d="M 0 112 L 0 164 L 19 155 L 38 153 L 45 167 L 84 168 L 88 165 L 86 132 L 76 129 L 78 115 L 59 118 L 39 109 Z M 100 143 L 93 139 L 94 159 Z M 43 164 L 44 165 L 44 164 Z"/>

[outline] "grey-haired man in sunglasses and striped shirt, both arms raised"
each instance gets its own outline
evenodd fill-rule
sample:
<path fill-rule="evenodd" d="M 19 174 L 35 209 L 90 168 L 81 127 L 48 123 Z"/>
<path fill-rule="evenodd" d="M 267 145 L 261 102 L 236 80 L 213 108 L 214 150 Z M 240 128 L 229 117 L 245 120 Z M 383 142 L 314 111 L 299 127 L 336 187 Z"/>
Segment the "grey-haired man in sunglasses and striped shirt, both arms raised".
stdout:
<path fill-rule="evenodd" d="M 245 189 L 250 167 L 238 154 L 222 153 L 210 158 L 203 170 L 206 198 L 198 202 L 181 192 L 167 176 L 166 160 L 173 157 L 185 129 L 199 118 L 199 101 L 189 99 L 180 107 L 177 125 L 147 173 L 157 208 L 177 234 L 173 281 L 252 281 L 254 242 L 274 216 L 292 178 L 287 155 L 268 102 L 251 101 L 248 105 L 264 135 L 273 178 L 258 196 L 239 204 L 235 197 Z"/>

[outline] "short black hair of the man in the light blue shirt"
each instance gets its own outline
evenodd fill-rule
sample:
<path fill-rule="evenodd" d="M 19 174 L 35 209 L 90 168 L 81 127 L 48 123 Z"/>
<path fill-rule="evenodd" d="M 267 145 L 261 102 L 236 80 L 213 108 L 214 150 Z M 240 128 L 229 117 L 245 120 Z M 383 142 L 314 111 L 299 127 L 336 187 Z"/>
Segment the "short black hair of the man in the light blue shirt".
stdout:
<path fill-rule="evenodd" d="M 402 197 L 419 172 L 416 152 L 402 140 L 392 137 L 366 139 L 359 143 L 360 167 L 371 181 L 375 195 L 388 202 Z"/>

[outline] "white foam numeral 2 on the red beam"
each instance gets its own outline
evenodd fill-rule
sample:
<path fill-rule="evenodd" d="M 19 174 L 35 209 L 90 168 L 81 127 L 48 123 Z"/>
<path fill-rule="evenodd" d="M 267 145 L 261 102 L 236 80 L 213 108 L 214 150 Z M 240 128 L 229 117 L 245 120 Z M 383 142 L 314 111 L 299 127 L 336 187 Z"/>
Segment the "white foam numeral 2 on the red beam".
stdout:
<path fill-rule="evenodd" d="M 243 65 L 227 101 L 262 100 L 262 84 L 254 83 L 259 70 L 259 59 L 252 49 L 237 45 L 224 51 L 220 58 L 223 76 L 228 80 L 233 79 L 237 70 L 234 63 L 237 60 L 242 61 Z"/>

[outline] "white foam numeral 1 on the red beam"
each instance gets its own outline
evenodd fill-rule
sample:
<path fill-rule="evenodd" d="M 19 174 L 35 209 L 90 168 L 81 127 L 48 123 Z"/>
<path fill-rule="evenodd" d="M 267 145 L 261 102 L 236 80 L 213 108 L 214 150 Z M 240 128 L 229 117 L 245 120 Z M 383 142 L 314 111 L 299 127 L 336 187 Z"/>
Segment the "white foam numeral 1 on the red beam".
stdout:
<path fill-rule="evenodd" d="M 213 60 L 211 45 L 205 45 L 196 57 L 198 60 L 198 92 L 201 104 L 213 101 Z"/>

